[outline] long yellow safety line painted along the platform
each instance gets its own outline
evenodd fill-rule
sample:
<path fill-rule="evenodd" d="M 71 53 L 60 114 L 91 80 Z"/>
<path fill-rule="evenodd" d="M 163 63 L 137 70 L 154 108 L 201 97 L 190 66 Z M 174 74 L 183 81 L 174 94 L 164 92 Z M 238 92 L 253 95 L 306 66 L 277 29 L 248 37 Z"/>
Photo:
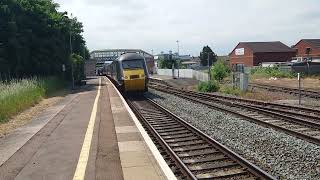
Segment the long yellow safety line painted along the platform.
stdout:
<path fill-rule="evenodd" d="M 90 121 L 88 124 L 86 135 L 84 137 L 81 153 L 80 153 L 78 164 L 77 164 L 77 169 L 74 173 L 73 180 L 83 180 L 85 176 L 88 159 L 89 159 L 93 129 L 94 129 L 95 119 L 96 119 L 97 110 L 98 110 L 98 100 L 100 97 L 100 89 L 101 89 L 101 78 L 99 78 L 98 93 L 97 93 L 96 99 L 94 100 Z"/>

